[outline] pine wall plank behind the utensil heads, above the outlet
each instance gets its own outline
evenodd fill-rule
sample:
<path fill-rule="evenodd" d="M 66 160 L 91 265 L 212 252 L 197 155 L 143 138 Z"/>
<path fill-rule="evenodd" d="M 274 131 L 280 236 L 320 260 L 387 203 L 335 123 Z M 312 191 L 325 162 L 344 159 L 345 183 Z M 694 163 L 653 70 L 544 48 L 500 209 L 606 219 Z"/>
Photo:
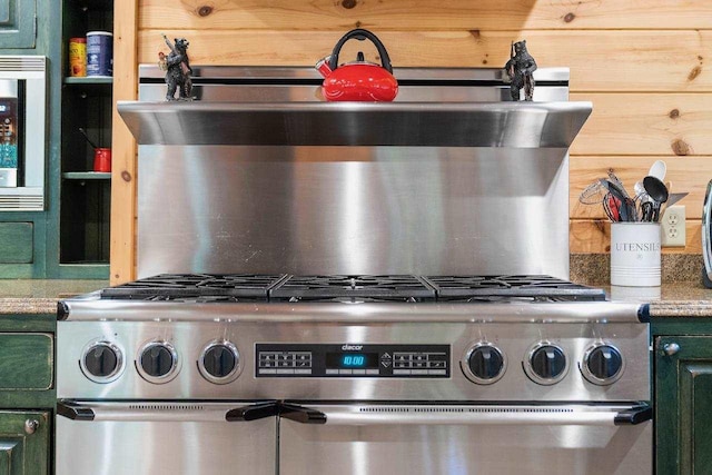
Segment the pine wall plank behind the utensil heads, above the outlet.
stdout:
<path fill-rule="evenodd" d="M 599 178 L 607 178 L 606 171 L 613 169 L 627 192 L 634 196 L 635 182 L 641 181 L 651 165 L 660 158 L 668 165 L 665 181 L 671 185 L 670 191 L 690 194 L 680 201 L 685 206 L 688 219 L 701 219 L 708 181 L 712 179 L 712 157 L 571 157 L 570 216 L 573 219 L 604 219 L 602 206 L 580 202 L 578 197 L 584 188 Z"/>

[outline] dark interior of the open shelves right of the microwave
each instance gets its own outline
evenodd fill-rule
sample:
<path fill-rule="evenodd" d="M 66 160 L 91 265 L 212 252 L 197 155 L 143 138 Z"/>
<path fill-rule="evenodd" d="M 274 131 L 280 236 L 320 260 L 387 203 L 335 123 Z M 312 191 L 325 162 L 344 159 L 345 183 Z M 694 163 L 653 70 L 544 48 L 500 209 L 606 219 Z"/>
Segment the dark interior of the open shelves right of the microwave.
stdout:
<path fill-rule="evenodd" d="M 111 174 L 89 171 L 93 147 L 79 129 L 111 147 L 113 78 L 69 76 L 69 39 L 89 31 L 113 31 L 113 0 L 63 0 L 59 265 L 75 278 L 106 276 L 109 263 Z"/>

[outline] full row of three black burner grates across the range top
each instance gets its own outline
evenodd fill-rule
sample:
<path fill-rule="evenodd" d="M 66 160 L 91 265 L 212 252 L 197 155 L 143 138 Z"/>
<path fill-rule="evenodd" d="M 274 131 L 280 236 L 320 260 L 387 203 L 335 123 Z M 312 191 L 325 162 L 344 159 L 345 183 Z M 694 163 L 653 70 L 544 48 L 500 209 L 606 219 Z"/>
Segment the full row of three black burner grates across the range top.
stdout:
<path fill-rule="evenodd" d="M 102 298 L 186 303 L 593 301 L 602 289 L 551 276 L 290 276 L 161 274 L 101 291 Z"/>

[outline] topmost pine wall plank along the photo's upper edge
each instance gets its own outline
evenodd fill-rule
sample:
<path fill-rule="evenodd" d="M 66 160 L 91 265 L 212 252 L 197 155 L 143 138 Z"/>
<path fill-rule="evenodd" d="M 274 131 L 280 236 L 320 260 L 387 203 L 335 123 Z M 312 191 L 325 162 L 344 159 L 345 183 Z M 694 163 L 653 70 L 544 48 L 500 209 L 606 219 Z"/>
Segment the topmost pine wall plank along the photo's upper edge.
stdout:
<path fill-rule="evenodd" d="M 711 28 L 700 0 L 141 0 L 140 28 L 517 30 Z"/>

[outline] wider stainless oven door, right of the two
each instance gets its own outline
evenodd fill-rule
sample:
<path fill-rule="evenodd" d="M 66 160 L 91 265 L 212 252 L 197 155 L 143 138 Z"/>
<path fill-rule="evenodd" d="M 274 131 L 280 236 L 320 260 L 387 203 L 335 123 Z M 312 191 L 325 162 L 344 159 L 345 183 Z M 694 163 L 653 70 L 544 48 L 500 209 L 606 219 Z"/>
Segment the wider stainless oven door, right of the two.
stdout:
<path fill-rule="evenodd" d="M 652 473 L 640 405 L 286 405 L 288 474 Z"/>

